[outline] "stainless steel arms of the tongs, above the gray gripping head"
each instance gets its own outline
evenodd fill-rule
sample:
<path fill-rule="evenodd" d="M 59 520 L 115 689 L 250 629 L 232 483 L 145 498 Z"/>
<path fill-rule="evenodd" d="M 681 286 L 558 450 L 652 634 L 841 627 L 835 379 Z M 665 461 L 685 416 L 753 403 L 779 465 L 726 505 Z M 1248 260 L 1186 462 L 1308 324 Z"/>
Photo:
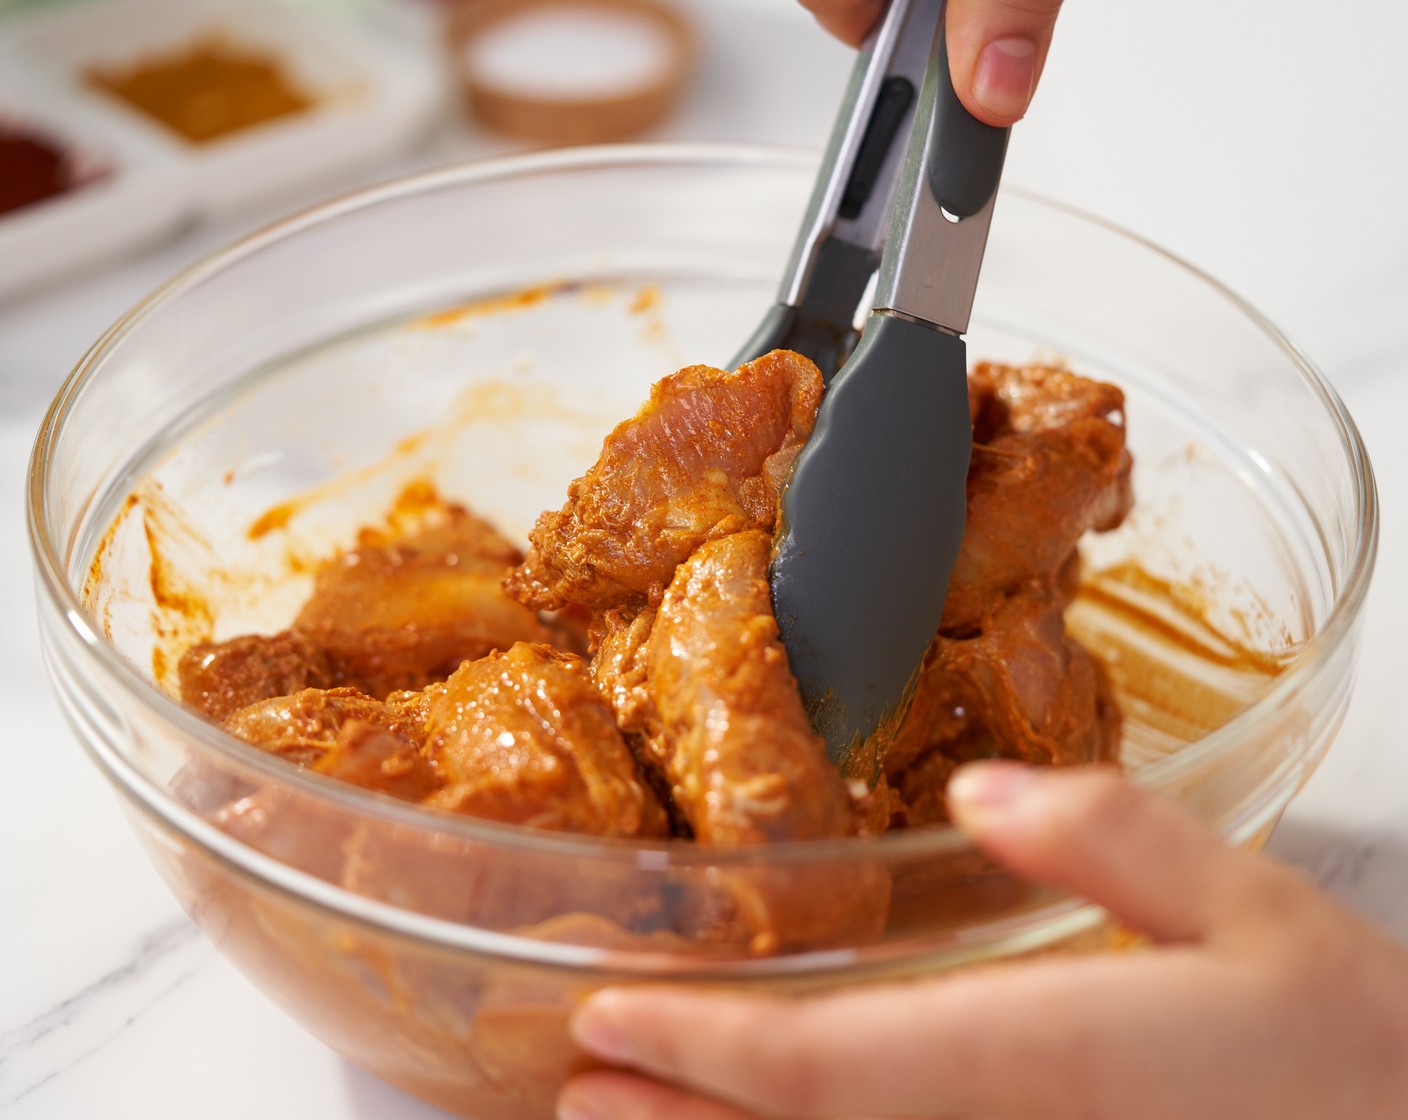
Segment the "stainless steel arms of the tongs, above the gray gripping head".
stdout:
<path fill-rule="evenodd" d="M 1007 130 L 969 116 L 953 90 L 945 0 L 891 0 L 856 59 L 777 303 L 734 358 L 783 347 L 828 383 L 874 310 L 967 330 Z"/>

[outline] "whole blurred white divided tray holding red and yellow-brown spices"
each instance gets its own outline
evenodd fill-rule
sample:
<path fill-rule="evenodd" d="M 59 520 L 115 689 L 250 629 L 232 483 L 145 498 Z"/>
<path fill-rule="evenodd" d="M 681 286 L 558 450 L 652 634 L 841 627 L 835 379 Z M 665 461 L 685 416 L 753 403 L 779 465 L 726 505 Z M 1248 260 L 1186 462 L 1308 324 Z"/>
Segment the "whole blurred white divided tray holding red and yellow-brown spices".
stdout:
<path fill-rule="evenodd" d="M 273 54 L 317 104 L 197 145 L 84 82 L 89 68 L 208 37 Z M 442 72 L 410 41 L 284 0 L 89 0 L 11 18 L 0 24 L 0 111 L 108 158 L 114 173 L 0 216 L 0 299 L 183 221 L 373 168 L 444 103 Z"/>

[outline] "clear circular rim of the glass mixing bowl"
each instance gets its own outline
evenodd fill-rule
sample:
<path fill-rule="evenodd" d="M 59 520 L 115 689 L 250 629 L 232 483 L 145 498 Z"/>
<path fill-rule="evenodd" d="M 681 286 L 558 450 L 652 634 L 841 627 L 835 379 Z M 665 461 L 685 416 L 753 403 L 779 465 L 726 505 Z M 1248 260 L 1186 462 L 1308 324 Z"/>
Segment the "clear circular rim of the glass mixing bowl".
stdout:
<path fill-rule="evenodd" d="M 48 490 L 51 486 L 51 459 L 55 445 L 63 433 L 75 403 L 82 396 L 86 386 L 97 375 L 104 358 L 117 348 L 127 334 L 142 318 L 162 310 L 177 300 L 183 292 L 200 285 L 206 278 L 237 265 L 245 256 L 259 252 L 268 245 L 297 237 L 300 232 L 329 221 L 339 216 L 373 207 L 377 203 L 403 199 L 417 193 L 456 189 L 477 182 L 496 179 L 513 179 L 529 175 L 551 175 L 555 172 L 591 170 L 603 168 L 628 166 L 734 166 L 748 169 L 750 166 L 773 169 L 796 169 L 810 172 L 815 169 L 817 152 L 810 149 L 790 149 L 762 145 L 741 144 L 636 144 L 636 145 L 600 145 L 589 148 L 566 148 L 531 155 L 507 156 L 470 163 L 446 166 L 418 175 L 394 179 L 377 186 L 344 194 L 322 204 L 314 206 L 266 228 L 251 234 L 230 247 L 207 255 L 177 273 L 169 282 L 137 303 L 130 311 L 118 318 L 108 330 L 89 348 L 83 358 L 66 378 L 49 406 L 38 435 L 28 466 L 27 480 L 27 514 L 31 547 L 34 549 L 39 586 L 55 606 L 61 610 L 70 637 L 76 638 L 86 654 L 96 662 L 103 673 L 120 682 L 127 693 L 141 702 L 146 709 L 159 716 L 166 724 L 183 737 L 201 744 L 201 749 L 211 751 L 220 757 L 237 758 L 238 762 L 255 771 L 260 771 L 273 782 L 287 783 L 301 795 L 325 800 L 339 809 L 352 810 L 360 814 L 375 816 L 389 824 L 401 827 L 424 828 L 429 824 L 436 831 L 451 833 L 465 840 L 479 841 L 490 845 L 501 845 L 517 850 L 539 850 L 543 852 L 558 852 L 573 857 L 590 855 L 597 859 L 620 859 L 636 865 L 663 866 L 663 864 L 707 864 L 712 866 L 729 865 L 779 865 L 793 862 L 834 862 L 849 859 L 894 859 L 907 857 L 936 857 L 946 852 L 962 851 L 972 845 L 955 828 L 926 828 L 912 833 L 891 833 L 865 840 L 828 840 L 828 841 L 794 841 L 772 844 L 766 848 L 736 848 L 736 850 L 703 850 L 694 845 L 672 842 L 642 842 L 607 840 L 600 837 L 580 837 L 565 833 L 548 833 L 514 826 L 494 824 L 470 817 L 434 813 L 411 806 L 404 802 L 379 793 L 369 793 L 355 786 L 349 786 L 321 775 L 304 773 L 280 759 L 249 751 L 249 748 L 234 737 L 220 731 L 193 711 L 184 709 L 179 702 L 161 692 L 151 680 L 144 678 L 135 666 L 122 658 L 99 634 L 94 620 L 84 609 L 79 593 L 75 590 L 66 575 L 65 549 L 56 527 L 52 525 Z M 1326 416 L 1331 418 L 1345 451 L 1346 465 L 1352 475 L 1354 496 L 1353 524 L 1357 533 L 1350 542 L 1349 562 L 1342 573 L 1342 585 L 1336 595 L 1324 626 L 1305 642 L 1298 655 L 1286 671 L 1277 678 L 1267 695 L 1240 711 L 1229 723 L 1193 744 L 1191 747 L 1166 759 L 1142 766 L 1135 779 L 1150 789 L 1160 789 L 1176 785 L 1190 771 L 1198 768 L 1209 757 L 1215 757 L 1229 749 L 1240 737 L 1250 733 L 1264 713 L 1274 711 L 1287 699 L 1305 687 L 1308 679 L 1314 679 L 1324 671 L 1324 666 L 1336 658 L 1353 630 L 1354 618 L 1362 610 L 1373 575 L 1374 558 L 1378 541 L 1378 499 L 1374 487 L 1373 468 L 1363 440 L 1339 394 L 1329 385 L 1315 365 L 1293 344 L 1277 327 L 1274 327 L 1255 307 L 1246 303 L 1236 293 L 1212 279 L 1202 270 L 1187 263 L 1181 258 L 1167 252 L 1159 245 L 1138 234 L 1132 234 L 1119 225 L 1104 218 L 1087 214 L 1086 211 L 1060 201 L 1046 199 L 1041 194 L 1022 190 L 1019 187 L 1004 186 L 1004 194 L 1019 196 L 1028 203 L 1063 213 L 1090 225 L 1112 232 L 1143 251 L 1163 258 L 1170 266 L 1178 268 L 1200 283 L 1212 289 L 1221 299 L 1250 320 L 1288 359 L 1291 368 L 1300 375 L 1311 392 L 1322 403 Z M 762 309 L 760 311 L 762 313 Z M 84 744 L 90 752 L 92 744 Z M 227 848 L 228 837 L 222 834 L 218 840 L 207 830 L 189 810 L 183 809 L 166 795 L 151 786 L 139 775 L 135 766 L 127 759 L 97 758 L 103 769 L 118 780 L 130 786 L 130 792 L 138 793 L 138 800 L 149 810 L 158 813 L 177 831 L 191 840 L 200 834 L 201 847 L 225 848 L 225 858 L 234 855 Z M 117 764 L 117 765 L 113 765 Z M 131 789 L 137 782 L 148 785 L 148 789 L 138 792 Z M 146 796 L 141 796 L 145 793 Z M 1235 833 L 1236 823 L 1225 827 L 1229 834 Z M 234 844 L 234 841 L 230 841 Z M 242 848 L 242 845 L 238 845 Z M 255 865 L 273 864 L 268 857 L 260 857 L 252 850 L 244 850 L 252 857 L 251 868 Z M 242 862 L 242 861 L 241 861 Z M 282 868 L 282 865 L 279 865 Z M 283 868 L 298 879 L 313 881 L 293 869 Z M 258 872 L 255 872 L 258 873 Z M 260 875 L 259 878 L 265 878 Z M 355 909 L 363 909 L 366 899 L 359 899 L 332 888 L 328 883 L 318 883 L 325 892 L 346 895 L 348 900 L 356 899 Z M 325 893 L 322 889 L 315 893 Z M 301 892 L 298 892 L 301 893 Z M 328 899 L 331 902 L 331 897 Z M 383 910 L 377 904 L 369 904 L 373 910 Z M 341 907 L 338 907 L 341 909 Z M 429 920 L 427 920 L 429 921 Z M 434 926 L 451 926 L 452 923 L 431 921 Z"/>

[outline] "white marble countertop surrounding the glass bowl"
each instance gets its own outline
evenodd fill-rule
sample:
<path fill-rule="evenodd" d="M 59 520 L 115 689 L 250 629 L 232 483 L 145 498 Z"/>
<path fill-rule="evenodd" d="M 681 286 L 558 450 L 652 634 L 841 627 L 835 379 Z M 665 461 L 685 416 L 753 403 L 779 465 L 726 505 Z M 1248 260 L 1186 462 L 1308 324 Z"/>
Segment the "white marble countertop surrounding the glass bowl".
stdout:
<path fill-rule="evenodd" d="M 791 0 L 691 0 L 705 62 L 663 138 L 815 145 L 849 66 Z M 1081 0 L 1014 132 L 1008 182 L 1200 265 L 1328 373 L 1377 471 L 1383 545 L 1359 687 L 1273 840 L 1408 941 L 1408 7 Z M 459 134 L 414 163 L 501 145 Z M 384 178 L 401 168 L 379 169 Z M 69 735 L 39 661 L 21 482 L 84 348 L 208 248 L 304 200 L 200 227 L 0 306 L 0 1114 L 442 1116 L 286 1020 L 196 931 Z M 1395 652 L 1398 651 L 1398 652 Z"/>

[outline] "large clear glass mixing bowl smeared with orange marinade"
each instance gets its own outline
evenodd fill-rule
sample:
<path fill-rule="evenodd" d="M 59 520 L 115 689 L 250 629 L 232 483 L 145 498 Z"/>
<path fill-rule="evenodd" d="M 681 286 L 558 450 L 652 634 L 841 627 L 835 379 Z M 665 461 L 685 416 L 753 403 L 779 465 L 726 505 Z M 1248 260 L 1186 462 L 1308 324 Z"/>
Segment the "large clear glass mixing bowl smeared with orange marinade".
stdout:
<path fill-rule="evenodd" d="M 749 334 L 814 166 L 580 149 L 355 194 L 145 300 L 44 421 L 39 618 L 79 740 L 256 985 L 452 1112 L 551 1116 L 583 1061 L 566 1017 L 607 983 L 807 992 L 1121 940 L 948 828 L 736 851 L 528 831 L 297 771 L 173 699 L 183 648 L 287 624 L 315 558 L 397 494 L 432 483 L 522 537 L 650 382 Z M 969 354 L 1125 389 L 1136 511 L 1088 541 L 1069 621 L 1107 661 L 1133 778 L 1259 842 L 1354 672 L 1377 507 L 1343 404 L 1208 278 L 1018 192 L 997 207 Z M 241 799 L 256 811 L 237 827 L 221 806 Z M 773 955 L 669 931 L 749 876 L 857 906 L 879 876 L 888 917 Z"/>

